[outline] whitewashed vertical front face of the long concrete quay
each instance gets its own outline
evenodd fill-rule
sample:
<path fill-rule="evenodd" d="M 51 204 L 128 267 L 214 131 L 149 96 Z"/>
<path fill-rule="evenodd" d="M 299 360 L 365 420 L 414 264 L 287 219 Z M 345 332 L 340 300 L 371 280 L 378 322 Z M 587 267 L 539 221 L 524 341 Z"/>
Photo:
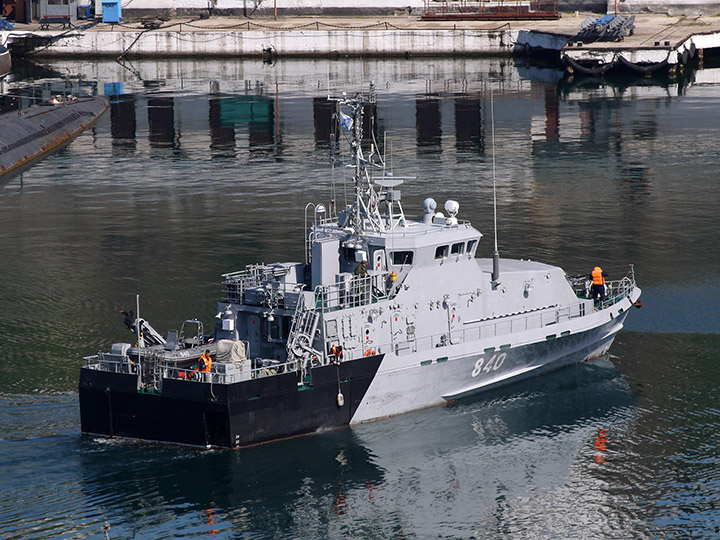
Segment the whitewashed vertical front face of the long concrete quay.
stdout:
<path fill-rule="evenodd" d="M 65 33 L 37 56 L 118 57 L 405 57 L 509 56 L 559 50 L 567 37 L 527 30 L 244 30 Z"/>

